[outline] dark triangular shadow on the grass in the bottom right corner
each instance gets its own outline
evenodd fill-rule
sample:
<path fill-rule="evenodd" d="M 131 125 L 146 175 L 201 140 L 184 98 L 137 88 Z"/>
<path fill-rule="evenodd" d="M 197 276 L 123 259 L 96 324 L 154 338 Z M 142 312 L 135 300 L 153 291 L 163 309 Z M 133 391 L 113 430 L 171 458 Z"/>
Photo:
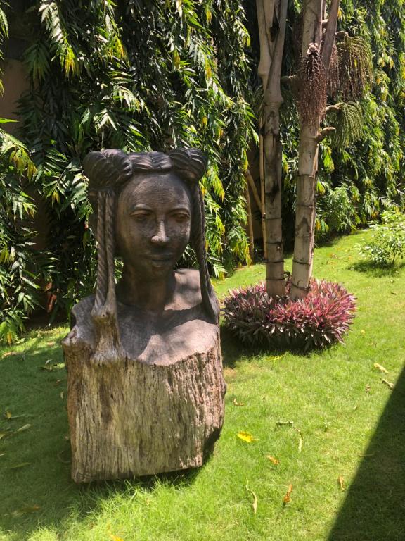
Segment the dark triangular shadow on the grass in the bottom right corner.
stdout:
<path fill-rule="evenodd" d="M 364 454 L 328 541 L 405 539 L 405 368 Z"/>

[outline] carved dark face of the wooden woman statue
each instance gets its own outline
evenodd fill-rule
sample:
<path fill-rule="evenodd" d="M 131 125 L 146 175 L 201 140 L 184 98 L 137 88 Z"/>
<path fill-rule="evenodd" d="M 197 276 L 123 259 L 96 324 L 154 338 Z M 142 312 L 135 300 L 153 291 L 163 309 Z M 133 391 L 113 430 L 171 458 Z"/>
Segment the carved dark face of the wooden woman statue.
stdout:
<path fill-rule="evenodd" d="M 190 238 L 191 194 L 171 173 L 134 175 L 117 201 L 117 251 L 141 280 L 164 278 Z"/>

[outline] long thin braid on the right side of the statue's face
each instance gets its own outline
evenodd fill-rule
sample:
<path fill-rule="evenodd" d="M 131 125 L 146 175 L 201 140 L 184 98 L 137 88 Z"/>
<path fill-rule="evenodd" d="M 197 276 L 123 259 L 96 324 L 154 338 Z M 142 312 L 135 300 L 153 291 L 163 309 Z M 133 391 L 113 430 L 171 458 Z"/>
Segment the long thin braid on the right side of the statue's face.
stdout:
<path fill-rule="evenodd" d="M 207 253 L 205 251 L 205 216 L 204 201 L 200 186 L 195 184 L 192 189 L 193 197 L 193 228 L 192 244 L 197 256 L 198 268 L 200 270 L 200 287 L 203 305 L 207 315 L 218 321 L 218 308 L 212 295 L 210 273 L 208 272 Z"/>

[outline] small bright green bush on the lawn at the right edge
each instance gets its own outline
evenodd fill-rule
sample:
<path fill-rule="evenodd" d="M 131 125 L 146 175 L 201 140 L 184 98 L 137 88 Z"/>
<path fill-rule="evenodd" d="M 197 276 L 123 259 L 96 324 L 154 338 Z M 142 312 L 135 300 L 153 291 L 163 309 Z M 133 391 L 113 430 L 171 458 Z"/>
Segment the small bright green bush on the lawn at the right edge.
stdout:
<path fill-rule="evenodd" d="M 371 240 L 361 247 L 361 254 L 375 266 L 393 266 L 405 256 L 405 214 L 397 207 L 381 213 L 382 223 L 373 223 Z"/>

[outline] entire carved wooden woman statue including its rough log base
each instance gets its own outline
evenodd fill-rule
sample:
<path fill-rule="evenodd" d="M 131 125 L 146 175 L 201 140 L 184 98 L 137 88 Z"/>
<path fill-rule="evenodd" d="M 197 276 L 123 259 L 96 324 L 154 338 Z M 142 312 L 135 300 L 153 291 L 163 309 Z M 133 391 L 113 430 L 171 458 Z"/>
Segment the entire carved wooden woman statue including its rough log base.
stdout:
<path fill-rule="evenodd" d="M 83 166 L 98 272 L 63 342 L 72 478 L 201 466 L 221 432 L 225 393 L 199 185 L 205 157 L 113 149 L 91 152 Z M 173 270 L 188 242 L 199 269 Z"/>

